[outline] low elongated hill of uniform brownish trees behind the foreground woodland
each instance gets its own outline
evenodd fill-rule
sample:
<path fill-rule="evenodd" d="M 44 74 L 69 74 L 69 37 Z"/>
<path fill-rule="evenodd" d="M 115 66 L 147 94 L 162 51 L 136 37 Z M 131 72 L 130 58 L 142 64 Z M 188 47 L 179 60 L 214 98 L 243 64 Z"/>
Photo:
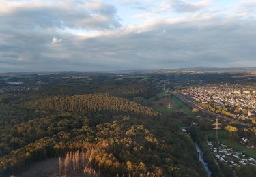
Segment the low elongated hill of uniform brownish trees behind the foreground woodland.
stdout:
<path fill-rule="evenodd" d="M 106 94 L 74 95 L 69 97 L 51 97 L 26 104 L 28 108 L 39 111 L 57 112 L 111 112 L 134 113 L 144 116 L 157 116 L 158 112 L 141 106 L 139 103 Z"/>

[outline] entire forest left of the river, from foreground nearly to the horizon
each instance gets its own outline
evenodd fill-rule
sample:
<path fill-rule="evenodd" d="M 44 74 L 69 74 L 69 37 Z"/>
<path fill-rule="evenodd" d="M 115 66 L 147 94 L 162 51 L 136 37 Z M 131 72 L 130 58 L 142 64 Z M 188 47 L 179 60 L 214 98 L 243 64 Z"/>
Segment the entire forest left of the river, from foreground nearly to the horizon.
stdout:
<path fill-rule="evenodd" d="M 0 176 L 22 176 L 51 158 L 58 159 L 57 176 L 206 175 L 193 141 L 171 116 L 132 101 L 159 92 L 154 78 L 47 75 L 21 81 L 30 88 L 40 78 L 36 90 L 15 86 L 1 93 Z"/>

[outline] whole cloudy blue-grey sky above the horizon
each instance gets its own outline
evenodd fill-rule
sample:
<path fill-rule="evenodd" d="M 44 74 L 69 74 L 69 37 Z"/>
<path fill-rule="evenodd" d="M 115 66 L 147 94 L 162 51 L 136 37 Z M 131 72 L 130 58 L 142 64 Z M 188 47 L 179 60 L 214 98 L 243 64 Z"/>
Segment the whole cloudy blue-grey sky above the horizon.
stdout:
<path fill-rule="evenodd" d="M 0 0 L 0 72 L 256 67 L 256 0 Z"/>

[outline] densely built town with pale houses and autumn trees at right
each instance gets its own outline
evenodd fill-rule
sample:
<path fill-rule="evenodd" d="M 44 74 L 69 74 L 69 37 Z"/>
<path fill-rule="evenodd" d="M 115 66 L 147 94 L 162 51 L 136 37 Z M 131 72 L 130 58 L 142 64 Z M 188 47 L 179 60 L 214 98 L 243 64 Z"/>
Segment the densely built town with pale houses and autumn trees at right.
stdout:
<path fill-rule="evenodd" d="M 181 93 L 212 112 L 224 113 L 224 115 L 226 113 L 225 116 L 242 120 L 255 119 L 256 88 L 205 84 L 199 87 L 186 88 Z M 221 110 L 225 112 L 221 112 Z"/>

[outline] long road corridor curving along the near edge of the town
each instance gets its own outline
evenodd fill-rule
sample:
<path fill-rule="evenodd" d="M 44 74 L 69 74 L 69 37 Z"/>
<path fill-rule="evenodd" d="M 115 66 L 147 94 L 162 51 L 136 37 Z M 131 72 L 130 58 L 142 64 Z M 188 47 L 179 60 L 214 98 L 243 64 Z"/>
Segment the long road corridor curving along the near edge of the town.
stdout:
<path fill-rule="evenodd" d="M 194 103 L 193 101 L 190 101 L 189 99 L 187 99 L 186 97 L 184 97 L 181 93 L 177 93 L 175 91 L 170 91 L 170 93 L 172 93 L 173 95 L 175 95 L 175 97 L 178 97 L 181 101 L 183 101 L 184 103 L 186 103 L 190 108 L 197 108 L 198 110 L 200 110 L 201 112 L 203 112 L 203 114 L 206 114 L 208 116 L 212 116 L 214 118 L 218 117 L 219 119 L 223 119 L 223 120 L 228 120 L 228 121 L 232 121 L 235 123 L 238 123 L 240 125 L 243 126 L 248 126 L 251 127 L 253 126 L 251 123 L 243 123 L 239 120 L 235 120 L 233 118 L 229 118 L 227 116 L 223 116 L 221 114 L 217 114 L 215 112 L 211 112 L 210 110 L 206 110 L 204 108 L 201 108 L 200 106 L 197 106 L 196 103 Z"/>

